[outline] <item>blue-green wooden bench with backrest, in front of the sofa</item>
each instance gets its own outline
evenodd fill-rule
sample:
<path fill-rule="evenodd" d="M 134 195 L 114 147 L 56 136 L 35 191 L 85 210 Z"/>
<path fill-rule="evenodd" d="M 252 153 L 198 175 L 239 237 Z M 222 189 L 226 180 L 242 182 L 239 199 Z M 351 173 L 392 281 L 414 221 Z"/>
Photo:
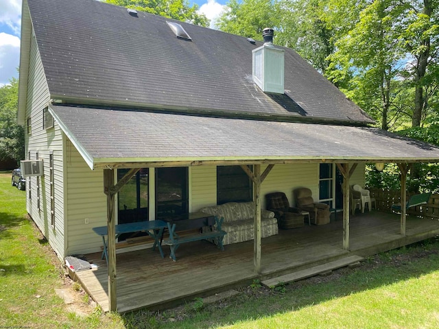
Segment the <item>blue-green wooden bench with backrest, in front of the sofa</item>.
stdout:
<path fill-rule="evenodd" d="M 176 224 L 175 223 L 167 223 L 167 228 L 169 230 L 169 240 L 165 241 L 165 245 L 169 245 L 171 248 L 171 254 L 169 255 L 174 262 L 176 261 L 176 250 L 182 243 L 187 242 L 193 242 L 193 241 L 200 241 L 200 240 L 213 240 L 217 244 L 218 248 L 224 251 L 224 245 L 222 244 L 222 239 L 224 238 L 224 235 L 226 235 L 226 232 L 224 232 L 221 229 L 222 222 L 224 221 L 224 218 L 218 219 L 215 217 L 215 221 L 217 224 L 217 227 L 215 230 L 201 232 L 197 234 L 191 234 L 187 236 L 178 236 L 176 234 Z"/>

